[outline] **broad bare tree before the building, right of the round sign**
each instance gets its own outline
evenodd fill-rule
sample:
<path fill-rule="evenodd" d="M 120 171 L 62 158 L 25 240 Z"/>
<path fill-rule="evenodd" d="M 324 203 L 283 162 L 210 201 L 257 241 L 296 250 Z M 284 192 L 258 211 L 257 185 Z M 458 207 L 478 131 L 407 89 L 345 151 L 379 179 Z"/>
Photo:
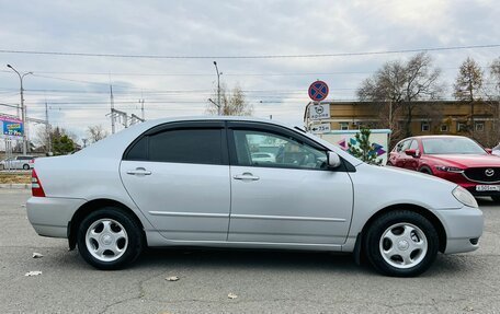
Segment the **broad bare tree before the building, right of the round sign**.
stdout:
<path fill-rule="evenodd" d="M 386 117 L 382 119 L 386 121 L 384 127 L 390 128 L 393 139 L 397 140 L 401 136 L 411 136 L 417 101 L 441 96 L 443 85 L 439 81 L 440 75 L 441 70 L 433 66 L 431 56 L 420 53 L 407 62 L 385 63 L 372 78 L 363 81 L 357 97 L 379 106 L 380 116 Z M 404 126 L 399 126 L 398 116 L 405 116 Z"/>

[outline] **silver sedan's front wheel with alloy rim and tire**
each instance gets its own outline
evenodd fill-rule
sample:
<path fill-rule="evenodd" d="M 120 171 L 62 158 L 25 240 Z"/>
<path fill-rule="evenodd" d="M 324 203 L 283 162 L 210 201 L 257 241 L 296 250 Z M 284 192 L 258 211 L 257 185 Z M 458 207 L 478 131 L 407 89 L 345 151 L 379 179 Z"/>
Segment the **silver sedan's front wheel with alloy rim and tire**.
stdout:
<path fill-rule="evenodd" d="M 397 210 L 377 218 L 365 237 L 366 257 L 379 272 L 413 277 L 425 271 L 438 255 L 439 236 L 423 216 Z"/>

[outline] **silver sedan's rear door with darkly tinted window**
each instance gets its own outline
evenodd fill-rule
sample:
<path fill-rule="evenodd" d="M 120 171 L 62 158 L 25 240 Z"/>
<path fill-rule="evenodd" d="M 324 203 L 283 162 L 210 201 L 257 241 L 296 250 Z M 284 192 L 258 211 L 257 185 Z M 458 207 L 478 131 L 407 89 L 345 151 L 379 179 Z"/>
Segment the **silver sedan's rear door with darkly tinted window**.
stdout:
<path fill-rule="evenodd" d="M 224 123 L 154 128 L 127 149 L 120 171 L 130 198 L 168 240 L 227 240 L 230 183 Z"/>

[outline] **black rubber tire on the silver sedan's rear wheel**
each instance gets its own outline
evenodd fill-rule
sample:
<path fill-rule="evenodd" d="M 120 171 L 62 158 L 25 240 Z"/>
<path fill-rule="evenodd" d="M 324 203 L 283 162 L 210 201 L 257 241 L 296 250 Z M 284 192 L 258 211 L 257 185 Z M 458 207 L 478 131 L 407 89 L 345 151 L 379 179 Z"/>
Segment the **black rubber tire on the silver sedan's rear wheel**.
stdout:
<path fill-rule="evenodd" d="M 105 221 L 110 225 L 109 232 L 104 230 Z M 115 235 L 120 239 L 115 240 L 114 244 L 103 243 L 101 245 L 92 236 L 87 237 L 88 231 L 90 232 L 89 229 L 91 228 L 94 231 L 99 231 L 102 228 L 101 233 L 99 233 L 99 239 L 102 242 L 113 242 L 110 239 Z M 124 236 L 118 235 L 122 228 L 124 230 Z M 87 263 L 99 269 L 114 270 L 122 269 L 136 260 L 143 252 L 145 241 L 140 225 L 130 214 L 120 208 L 105 207 L 89 213 L 81 221 L 78 228 L 77 243 L 78 251 Z M 109 245 L 110 249 L 106 248 L 106 245 Z M 99 246 L 104 251 L 101 254 L 102 258 L 98 257 L 100 255 L 96 249 Z M 113 248 L 120 248 L 118 246 L 122 246 L 121 252 L 114 254 Z"/>

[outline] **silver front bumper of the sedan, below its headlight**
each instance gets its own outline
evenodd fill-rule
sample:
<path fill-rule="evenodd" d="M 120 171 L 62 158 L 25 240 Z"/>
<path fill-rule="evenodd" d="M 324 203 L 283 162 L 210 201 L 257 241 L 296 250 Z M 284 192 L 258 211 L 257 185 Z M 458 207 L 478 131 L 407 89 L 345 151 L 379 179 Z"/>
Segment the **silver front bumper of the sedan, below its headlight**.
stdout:
<path fill-rule="evenodd" d="M 464 206 L 461 209 L 434 211 L 446 232 L 445 254 L 465 253 L 479 248 L 482 234 L 482 212 L 478 208 Z"/>

